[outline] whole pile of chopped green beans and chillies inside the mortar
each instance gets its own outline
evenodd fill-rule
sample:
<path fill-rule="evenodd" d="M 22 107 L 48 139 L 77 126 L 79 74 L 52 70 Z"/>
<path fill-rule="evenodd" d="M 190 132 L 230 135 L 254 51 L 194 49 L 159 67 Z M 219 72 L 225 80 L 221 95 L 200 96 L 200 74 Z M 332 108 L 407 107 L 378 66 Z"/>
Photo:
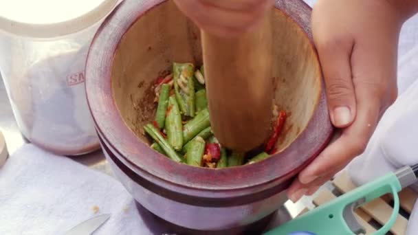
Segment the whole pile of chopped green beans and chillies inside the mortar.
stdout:
<path fill-rule="evenodd" d="M 192 63 L 173 63 L 172 77 L 173 80 L 167 80 L 168 84 L 161 82 L 159 85 L 155 119 L 153 124 L 146 124 L 144 130 L 154 139 L 151 148 L 158 153 L 190 166 L 203 166 L 206 143 L 219 144 L 210 127 L 204 67 L 195 67 Z M 163 128 L 166 135 L 160 131 Z M 221 144 L 219 146 L 221 153 L 219 157 L 217 148 L 216 168 L 253 164 L 270 157 L 263 152 L 247 161 L 245 153 L 230 153 Z M 212 150 L 212 147 L 209 145 L 208 149 Z M 214 164 L 206 163 L 210 168 Z"/>

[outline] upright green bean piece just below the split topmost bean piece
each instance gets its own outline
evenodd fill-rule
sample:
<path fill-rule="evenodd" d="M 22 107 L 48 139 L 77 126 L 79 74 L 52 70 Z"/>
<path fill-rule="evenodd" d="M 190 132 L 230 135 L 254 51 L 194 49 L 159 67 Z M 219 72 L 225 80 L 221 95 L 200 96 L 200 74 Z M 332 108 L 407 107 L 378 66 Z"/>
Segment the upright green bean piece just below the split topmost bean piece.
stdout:
<path fill-rule="evenodd" d="M 166 131 L 168 143 L 175 149 L 183 147 L 183 124 L 179 105 L 173 96 L 168 98 L 168 111 L 166 117 Z"/>

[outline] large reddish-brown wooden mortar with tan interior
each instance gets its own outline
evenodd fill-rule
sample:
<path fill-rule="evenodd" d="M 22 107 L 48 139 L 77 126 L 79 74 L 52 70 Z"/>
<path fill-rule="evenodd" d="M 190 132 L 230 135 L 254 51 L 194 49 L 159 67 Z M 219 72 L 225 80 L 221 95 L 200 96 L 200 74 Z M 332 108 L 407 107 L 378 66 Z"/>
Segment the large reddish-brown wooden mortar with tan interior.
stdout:
<path fill-rule="evenodd" d="M 278 0 L 272 14 L 274 102 L 289 115 L 278 153 L 217 170 L 160 155 L 142 130 L 154 117 L 150 87 L 159 73 L 173 61 L 202 63 L 199 29 L 163 0 L 124 0 L 104 21 L 87 58 L 87 100 L 107 160 L 138 203 L 210 231 L 250 226 L 285 203 L 289 183 L 333 132 L 310 14 L 302 0 Z"/>

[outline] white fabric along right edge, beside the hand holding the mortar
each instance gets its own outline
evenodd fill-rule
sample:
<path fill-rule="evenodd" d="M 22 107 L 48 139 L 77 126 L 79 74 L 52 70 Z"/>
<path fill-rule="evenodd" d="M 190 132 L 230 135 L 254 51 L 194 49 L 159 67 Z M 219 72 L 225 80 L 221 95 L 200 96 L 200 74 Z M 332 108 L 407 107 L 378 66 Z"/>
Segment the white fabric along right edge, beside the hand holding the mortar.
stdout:
<path fill-rule="evenodd" d="M 401 166 L 418 164 L 418 16 L 403 31 L 399 45 L 399 97 L 384 113 L 364 153 L 346 168 L 358 185 Z M 411 188 L 418 192 L 417 184 Z M 407 235 L 418 234 L 417 205 L 418 201 L 408 221 Z"/>

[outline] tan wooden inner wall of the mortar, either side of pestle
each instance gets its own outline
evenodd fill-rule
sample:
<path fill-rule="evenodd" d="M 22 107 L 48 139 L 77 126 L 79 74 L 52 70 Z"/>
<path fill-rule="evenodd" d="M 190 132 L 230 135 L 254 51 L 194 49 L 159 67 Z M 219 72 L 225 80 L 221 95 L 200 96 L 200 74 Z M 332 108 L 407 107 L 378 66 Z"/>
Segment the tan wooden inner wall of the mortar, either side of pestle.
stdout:
<path fill-rule="evenodd" d="M 311 119 L 321 91 L 321 73 L 314 47 L 299 25 L 278 9 L 273 17 L 274 102 L 287 112 L 276 144 L 278 152 L 300 135 Z M 127 126 L 140 141 L 151 144 L 144 124 L 155 117 L 157 105 L 151 89 L 172 63 L 201 65 L 199 28 L 173 1 L 156 5 L 130 27 L 115 52 L 111 84 L 115 104 Z"/>

